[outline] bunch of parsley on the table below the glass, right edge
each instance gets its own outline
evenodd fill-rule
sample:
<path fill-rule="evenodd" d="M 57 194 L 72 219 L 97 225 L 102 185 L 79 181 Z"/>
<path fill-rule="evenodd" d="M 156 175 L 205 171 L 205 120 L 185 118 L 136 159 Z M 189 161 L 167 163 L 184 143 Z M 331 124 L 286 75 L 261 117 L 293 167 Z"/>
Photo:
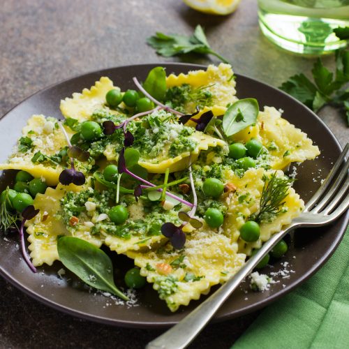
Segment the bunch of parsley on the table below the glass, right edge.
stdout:
<path fill-rule="evenodd" d="M 349 50 L 336 51 L 335 74 L 323 66 L 321 59 L 315 62 L 311 73 L 315 84 L 304 74 L 297 74 L 284 82 L 280 89 L 314 112 L 327 104 L 343 108 L 349 126 L 349 89 L 346 88 L 349 82 Z"/>

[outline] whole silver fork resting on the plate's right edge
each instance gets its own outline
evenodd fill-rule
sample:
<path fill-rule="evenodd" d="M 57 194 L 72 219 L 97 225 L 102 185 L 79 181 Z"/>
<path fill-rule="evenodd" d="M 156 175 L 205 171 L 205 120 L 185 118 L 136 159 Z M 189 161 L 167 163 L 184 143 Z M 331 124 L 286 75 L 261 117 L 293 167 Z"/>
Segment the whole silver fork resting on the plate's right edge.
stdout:
<path fill-rule="evenodd" d="M 347 195 L 349 187 L 349 161 L 346 161 L 348 149 L 349 144 L 346 144 L 341 156 L 339 156 L 327 178 L 315 195 L 313 195 L 313 198 L 306 204 L 300 216 L 295 218 L 290 225 L 286 226 L 281 232 L 273 235 L 265 242 L 258 253 L 255 253 L 235 276 L 232 276 L 231 279 L 218 288 L 205 302 L 202 302 L 200 306 L 177 325 L 174 325 L 174 327 L 167 332 L 148 343 L 146 348 L 186 348 L 205 325 L 207 325 L 207 322 L 211 320 L 212 316 L 218 311 L 223 302 L 225 302 L 237 286 L 252 272 L 255 266 L 258 265 L 260 260 L 262 260 L 275 244 L 290 232 L 290 230 L 300 227 L 326 225 L 339 218 L 349 206 L 349 195 Z M 339 172 L 340 169 L 341 171 Z"/>

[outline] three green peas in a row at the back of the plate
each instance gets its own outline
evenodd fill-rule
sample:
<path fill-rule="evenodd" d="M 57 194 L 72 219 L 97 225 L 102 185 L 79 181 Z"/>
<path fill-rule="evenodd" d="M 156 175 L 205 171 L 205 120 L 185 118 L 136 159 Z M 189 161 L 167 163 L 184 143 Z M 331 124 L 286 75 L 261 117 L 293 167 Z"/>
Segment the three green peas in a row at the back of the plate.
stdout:
<path fill-rule="evenodd" d="M 105 95 L 107 105 L 116 108 L 121 102 L 124 102 L 127 107 L 135 108 L 136 112 L 147 112 L 154 109 L 154 103 L 147 97 L 140 97 L 134 89 L 128 89 L 122 93 L 119 87 L 111 89 Z"/>

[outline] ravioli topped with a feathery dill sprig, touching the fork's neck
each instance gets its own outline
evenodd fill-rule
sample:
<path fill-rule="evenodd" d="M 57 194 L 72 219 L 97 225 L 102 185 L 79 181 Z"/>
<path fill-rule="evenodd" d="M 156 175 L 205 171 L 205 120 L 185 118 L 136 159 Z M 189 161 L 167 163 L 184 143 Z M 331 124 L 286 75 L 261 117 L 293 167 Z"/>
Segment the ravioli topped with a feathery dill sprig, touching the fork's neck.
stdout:
<path fill-rule="evenodd" d="M 304 202 L 295 189 L 290 187 L 285 198 L 284 213 L 279 214 L 271 223 L 260 224 L 260 237 L 256 242 L 244 242 L 239 236 L 239 229 L 246 222 L 246 219 L 259 210 L 260 196 L 264 186 L 263 175 L 270 175 L 273 171 L 265 171 L 263 168 L 250 169 L 241 179 L 232 172 L 225 173 L 225 180 L 236 186 L 235 193 L 226 195 L 225 204 L 228 212 L 222 226 L 225 235 L 232 239 L 232 242 L 239 244 L 239 252 L 251 255 L 253 248 L 260 248 L 262 242 L 266 242 L 275 232 L 279 232 L 283 225 L 288 225 L 293 218 L 299 216 L 304 209 Z M 278 171 L 277 176 L 283 176 Z"/>

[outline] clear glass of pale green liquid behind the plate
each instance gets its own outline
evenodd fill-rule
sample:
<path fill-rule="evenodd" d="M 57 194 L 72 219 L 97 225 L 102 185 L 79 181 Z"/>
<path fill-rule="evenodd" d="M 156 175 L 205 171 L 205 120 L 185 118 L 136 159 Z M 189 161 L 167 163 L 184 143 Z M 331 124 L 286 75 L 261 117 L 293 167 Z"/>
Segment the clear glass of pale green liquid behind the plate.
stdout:
<path fill-rule="evenodd" d="M 341 47 L 333 32 L 349 26 L 349 0 L 258 0 L 260 28 L 285 50 L 319 55 Z"/>

